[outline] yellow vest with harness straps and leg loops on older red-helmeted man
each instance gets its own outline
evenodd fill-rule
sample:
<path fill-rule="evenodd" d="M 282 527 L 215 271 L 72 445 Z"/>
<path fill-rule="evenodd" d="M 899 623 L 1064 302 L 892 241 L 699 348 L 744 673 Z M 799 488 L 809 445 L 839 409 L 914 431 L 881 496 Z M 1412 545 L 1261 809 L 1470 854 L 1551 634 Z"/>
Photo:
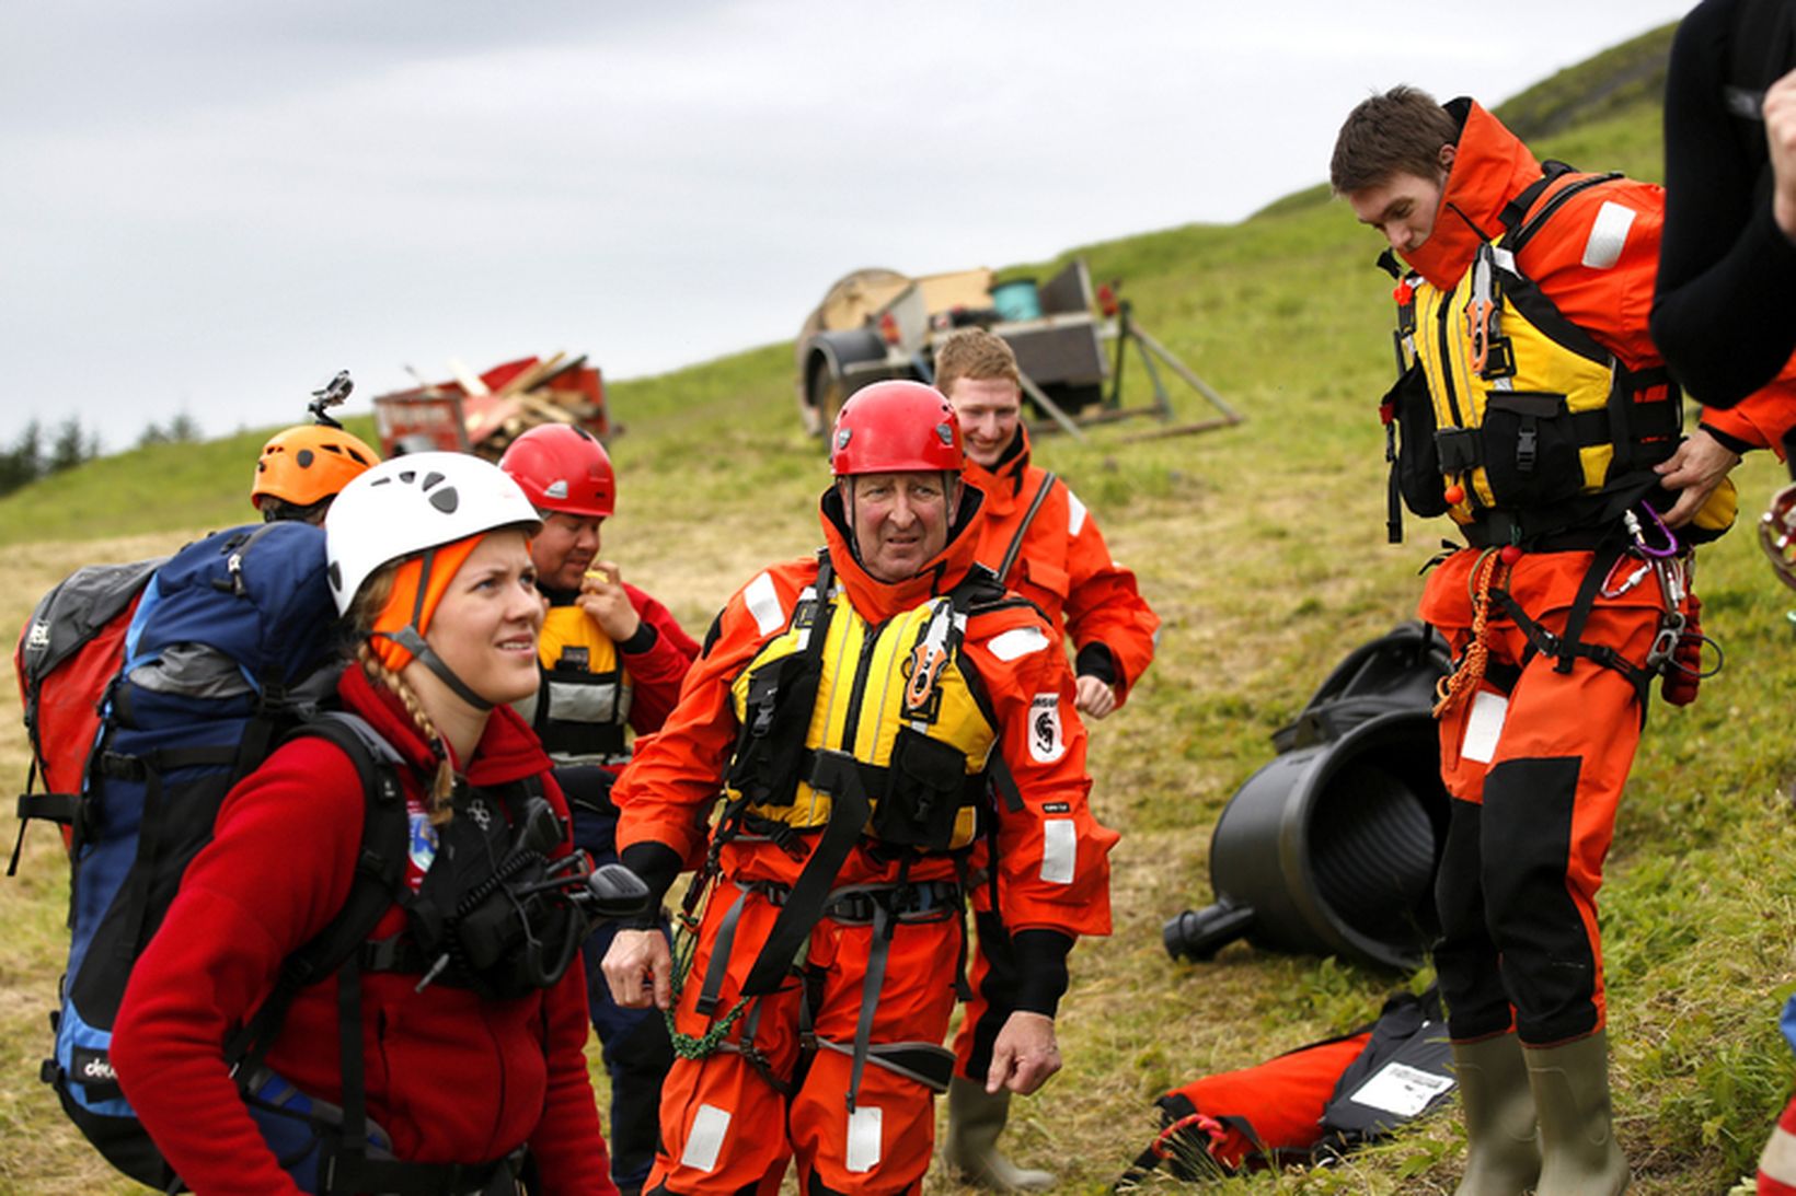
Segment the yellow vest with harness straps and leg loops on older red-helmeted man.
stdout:
<path fill-rule="evenodd" d="M 702 1036 L 684 1034 L 670 1009 L 677 1054 L 738 1052 L 774 1090 L 788 1092 L 788 1079 L 774 1074 L 753 1042 L 762 998 L 783 989 L 797 972 L 806 989 L 799 1002 L 801 1051 L 830 1049 L 853 1058 L 850 1110 L 869 1061 L 936 1092 L 946 1090 L 954 1054 L 939 1043 L 871 1043 L 873 1013 L 900 923 L 959 919 L 955 988 L 966 997 L 964 909 L 973 884 L 966 858 L 981 833 L 995 835 L 995 824 L 984 817 L 991 792 L 1011 810 L 1022 808 L 1022 797 L 997 751 L 995 718 L 979 675 L 961 666 L 961 643 L 973 614 L 1022 603 L 1004 594 L 990 569 L 975 566 L 948 594 L 869 625 L 835 585 L 828 551 L 819 553 L 817 576 L 799 594 L 785 632 L 756 654 L 733 686 L 740 733 L 726 772 L 727 805 L 706 866 L 686 893 L 675 943 L 675 1007 L 697 950 L 700 903 L 717 898 L 722 848 L 760 839 L 796 858 L 808 849 L 808 858 L 790 885 L 731 882 L 736 891 L 718 923 L 695 1002 L 697 1013 L 713 1022 Z M 896 882 L 837 885 L 857 846 L 875 858 L 896 860 Z M 952 880 L 911 880 L 916 860 L 943 855 L 954 860 Z M 736 925 L 751 894 L 779 912 L 742 995 L 717 1016 Z M 812 1033 L 812 984 L 794 964 L 824 918 L 873 927 L 851 1045 Z M 726 1042 L 738 1020 L 742 1034 Z"/>

